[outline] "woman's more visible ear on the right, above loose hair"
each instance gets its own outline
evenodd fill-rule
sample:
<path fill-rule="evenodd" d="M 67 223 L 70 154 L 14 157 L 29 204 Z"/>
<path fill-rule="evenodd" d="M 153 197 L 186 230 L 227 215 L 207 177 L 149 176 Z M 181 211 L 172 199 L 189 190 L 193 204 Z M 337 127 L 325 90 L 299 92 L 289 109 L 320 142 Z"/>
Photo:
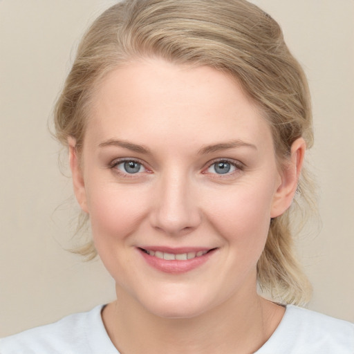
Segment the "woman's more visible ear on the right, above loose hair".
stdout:
<path fill-rule="evenodd" d="M 274 194 L 271 218 L 275 218 L 283 214 L 292 203 L 292 199 L 295 196 L 297 190 L 297 183 L 299 182 L 299 176 L 301 168 L 304 163 L 306 151 L 306 142 L 303 138 L 298 138 L 292 143 L 291 153 L 286 167 L 281 171 L 281 184 L 277 188 Z"/>

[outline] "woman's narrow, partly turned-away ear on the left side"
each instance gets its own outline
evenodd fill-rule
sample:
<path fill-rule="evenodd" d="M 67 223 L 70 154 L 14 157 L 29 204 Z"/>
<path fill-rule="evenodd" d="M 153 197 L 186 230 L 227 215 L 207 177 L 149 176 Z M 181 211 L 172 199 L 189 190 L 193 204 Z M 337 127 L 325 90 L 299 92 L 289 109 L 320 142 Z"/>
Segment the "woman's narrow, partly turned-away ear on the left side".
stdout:
<path fill-rule="evenodd" d="M 69 163 L 71 169 L 71 176 L 73 178 L 74 193 L 77 202 L 80 204 L 82 210 L 88 213 L 84 175 L 82 174 L 80 160 L 79 157 L 77 156 L 75 138 L 71 136 L 68 137 L 68 146 L 69 146 Z"/>

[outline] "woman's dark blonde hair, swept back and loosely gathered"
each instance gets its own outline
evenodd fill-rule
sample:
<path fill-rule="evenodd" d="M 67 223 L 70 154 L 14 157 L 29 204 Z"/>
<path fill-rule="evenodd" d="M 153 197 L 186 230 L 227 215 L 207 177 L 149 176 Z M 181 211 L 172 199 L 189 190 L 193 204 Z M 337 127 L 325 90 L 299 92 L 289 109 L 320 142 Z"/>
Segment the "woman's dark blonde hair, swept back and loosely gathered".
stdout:
<path fill-rule="evenodd" d="M 232 75 L 270 124 L 283 168 L 292 142 L 313 145 L 306 77 L 272 17 L 245 0 L 124 0 L 98 17 L 84 35 L 55 106 L 55 131 L 80 152 L 92 97 L 108 73 L 133 59 L 160 57 L 210 66 Z M 313 186 L 304 170 L 290 209 L 272 219 L 257 264 L 261 290 L 285 304 L 304 304 L 310 285 L 295 257 L 295 219 L 313 209 Z M 299 220 L 299 219 L 297 219 Z M 81 223 L 82 224 L 82 223 Z M 298 231 L 298 230 L 297 230 Z M 77 253 L 95 257 L 90 239 Z"/>

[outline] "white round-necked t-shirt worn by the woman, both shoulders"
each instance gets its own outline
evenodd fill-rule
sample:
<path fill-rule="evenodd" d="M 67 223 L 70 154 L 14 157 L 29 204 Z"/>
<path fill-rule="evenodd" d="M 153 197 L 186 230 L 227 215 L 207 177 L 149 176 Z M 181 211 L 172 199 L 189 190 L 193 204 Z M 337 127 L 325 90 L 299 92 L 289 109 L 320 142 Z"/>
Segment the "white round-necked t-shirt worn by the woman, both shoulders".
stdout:
<path fill-rule="evenodd" d="M 102 306 L 55 324 L 0 339 L 1 354 L 119 354 L 106 333 Z M 288 305 L 272 337 L 255 354 L 353 354 L 354 324 Z"/>

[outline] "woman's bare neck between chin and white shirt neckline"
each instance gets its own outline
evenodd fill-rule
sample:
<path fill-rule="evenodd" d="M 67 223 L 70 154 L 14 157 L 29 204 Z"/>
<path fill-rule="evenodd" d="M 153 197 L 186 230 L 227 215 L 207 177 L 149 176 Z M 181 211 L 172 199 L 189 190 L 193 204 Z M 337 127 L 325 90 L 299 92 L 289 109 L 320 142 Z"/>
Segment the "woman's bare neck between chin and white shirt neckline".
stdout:
<path fill-rule="evenodd" d="M 126 292 L 106 306 L 104 325 L 122 354 L 254 353 L 277 328 L 284 309 L 250 293 L 191 318 L 151 314 Z"/>

